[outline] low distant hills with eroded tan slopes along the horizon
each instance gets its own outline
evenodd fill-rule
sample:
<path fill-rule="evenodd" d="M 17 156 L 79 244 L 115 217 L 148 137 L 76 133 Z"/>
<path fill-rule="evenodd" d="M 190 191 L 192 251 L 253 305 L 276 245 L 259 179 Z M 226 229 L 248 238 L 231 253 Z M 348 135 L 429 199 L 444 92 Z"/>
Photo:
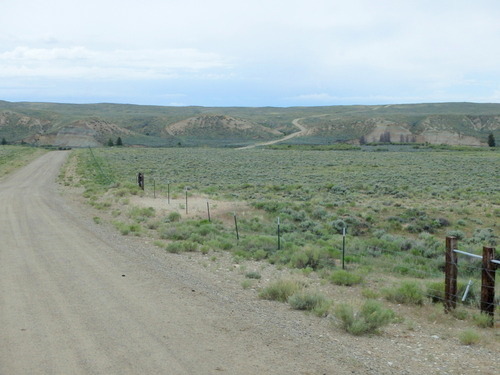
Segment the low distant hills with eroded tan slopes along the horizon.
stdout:
<path fill-rule="evenodd" d="M 297 132 L 286 143 L 405 142 L 484 146 L 500 139 L 500 104 L 435 103 L 325 107 L 162 107 L 0 101 L 0 138 L 9 143 L 86 147 L 237 147 Z"/>

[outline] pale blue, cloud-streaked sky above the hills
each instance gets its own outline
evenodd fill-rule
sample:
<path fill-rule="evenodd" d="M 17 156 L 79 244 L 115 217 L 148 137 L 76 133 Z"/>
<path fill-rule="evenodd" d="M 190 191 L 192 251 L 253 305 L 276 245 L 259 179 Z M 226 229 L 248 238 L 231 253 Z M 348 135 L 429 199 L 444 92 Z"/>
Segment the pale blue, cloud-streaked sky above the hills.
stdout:
<path fill-rule="evenodd" d="M 0 100 L 500 102 L 498 0 L 0 0 Z"/>

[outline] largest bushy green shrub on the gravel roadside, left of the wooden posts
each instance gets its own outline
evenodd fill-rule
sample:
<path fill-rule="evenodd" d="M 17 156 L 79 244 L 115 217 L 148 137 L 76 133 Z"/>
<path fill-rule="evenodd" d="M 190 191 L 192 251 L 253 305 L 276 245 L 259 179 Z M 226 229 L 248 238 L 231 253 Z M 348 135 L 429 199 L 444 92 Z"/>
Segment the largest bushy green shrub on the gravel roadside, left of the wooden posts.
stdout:
<path fill-rule="evenodd" d="M 342 304 L 335 310 L 335 316 L 343 329 L 352 335 L 378 333 L 380 328 L 394 321 L 395 314 L 380 302 L 367 300 L 361 310 L 354 312 L 350 305 Z"/>

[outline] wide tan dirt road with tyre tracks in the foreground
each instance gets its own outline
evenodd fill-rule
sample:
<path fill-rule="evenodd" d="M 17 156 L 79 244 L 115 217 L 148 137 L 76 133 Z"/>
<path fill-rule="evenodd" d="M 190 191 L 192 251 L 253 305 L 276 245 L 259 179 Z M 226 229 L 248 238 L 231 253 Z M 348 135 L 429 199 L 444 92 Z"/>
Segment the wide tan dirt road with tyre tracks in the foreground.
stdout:
<path fill-rule="evenodd" d="M 236 303 L 187 264 L 80 218 L 54 182 L 65 158 L 48 153 L 0 183 L 0 374 L 350 373 L 273 303 Z"/>

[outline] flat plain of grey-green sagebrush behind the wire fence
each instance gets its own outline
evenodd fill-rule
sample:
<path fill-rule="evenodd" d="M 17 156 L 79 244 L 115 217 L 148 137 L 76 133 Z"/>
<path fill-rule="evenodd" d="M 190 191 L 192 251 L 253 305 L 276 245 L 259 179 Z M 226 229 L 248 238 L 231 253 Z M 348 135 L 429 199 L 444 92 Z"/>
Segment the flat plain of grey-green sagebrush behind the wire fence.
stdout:
<path fill-rule="evenodd" d="M 71 183 L 84 186 L 95 207 L 112 210 L 123 234 L 147 233 L 171 252 L 230 251 L 235 260 L 268 261 L 338 284 L 346 228 L 344 261 L 354 285 L 366 288 L 370 275 L 388 275 L 416 282 L 439 302 L 445 237 L 457 236 L 460 249 L 477 254 L 498 243 L 496 151 L 107 148 L 93 154 L 73 153 L 78 178 Z M 138 172 L 144 192 L 136 186 Z M 152 196 L 153 184 L 158 199 L 166 199 L 168 187 L 173 196 L 187 189 L 190 197 L 247 202 L 240 239 L 231 220 L 171 220 L 128 207 L 133 195 Z M 480 260 L 460 262 L 460 282 L 477 281 L 468 301 L 477 306 Z"/>

